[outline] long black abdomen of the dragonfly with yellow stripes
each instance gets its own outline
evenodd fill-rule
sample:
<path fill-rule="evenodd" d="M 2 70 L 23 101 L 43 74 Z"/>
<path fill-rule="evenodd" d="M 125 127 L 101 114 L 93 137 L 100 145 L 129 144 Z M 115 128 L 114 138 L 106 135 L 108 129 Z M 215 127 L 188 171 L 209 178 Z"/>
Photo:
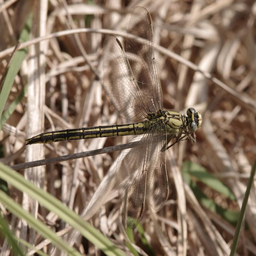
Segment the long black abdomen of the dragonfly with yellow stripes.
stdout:
<path fill-rule="evenodd" d="M 51 143 L 66 140 L 81 140 L 102 137 L 114 137 L 125 135 L 142 134 L 149 128 L 149 122 L 133 123 L 127 125 L 109 125 L 83 127 L 79 129 L 69 129 L 61 131 L 43 132 L 26 140 L 26 145 L 35 143 Z"/>

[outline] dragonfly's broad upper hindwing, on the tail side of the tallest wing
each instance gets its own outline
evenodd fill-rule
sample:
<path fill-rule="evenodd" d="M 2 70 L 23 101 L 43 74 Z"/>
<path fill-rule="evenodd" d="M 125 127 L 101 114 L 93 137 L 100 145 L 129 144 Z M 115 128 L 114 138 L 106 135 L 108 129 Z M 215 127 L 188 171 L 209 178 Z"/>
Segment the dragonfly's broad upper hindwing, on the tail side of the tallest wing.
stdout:
<path fill-rule="evenodd" d="M 106 97 L 113 110 L 128 120 L 146 118 L 145 95 L 133 78 L 121 43 L 113 36 L 104 41 L 103 70 Z"/>

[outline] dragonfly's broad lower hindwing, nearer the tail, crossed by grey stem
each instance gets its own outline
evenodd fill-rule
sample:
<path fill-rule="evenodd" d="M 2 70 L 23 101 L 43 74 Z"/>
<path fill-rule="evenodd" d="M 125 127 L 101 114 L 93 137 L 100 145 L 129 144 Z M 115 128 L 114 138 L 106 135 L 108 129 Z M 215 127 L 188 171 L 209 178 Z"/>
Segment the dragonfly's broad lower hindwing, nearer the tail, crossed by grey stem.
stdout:
<path fill-rule="evenodd" d="M 152 140 L 152 132 L 136 136 L 130 142 L 139 142 L 139 144 L 123 150 L 117 161 L 117 189 L 130 228 L 138 225 L 144 210 Z"/>

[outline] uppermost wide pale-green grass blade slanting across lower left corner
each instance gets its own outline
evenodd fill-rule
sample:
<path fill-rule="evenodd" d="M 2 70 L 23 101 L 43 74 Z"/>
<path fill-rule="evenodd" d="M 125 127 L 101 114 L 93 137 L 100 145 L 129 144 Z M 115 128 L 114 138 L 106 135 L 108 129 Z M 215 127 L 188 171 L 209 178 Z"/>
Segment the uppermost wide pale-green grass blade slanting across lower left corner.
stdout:
<path fill-rule="evenodd" d="M 109 239 L 96 228 L 92 227 L 88 222 L 84 221 L 79 215 L 71 211 L 66 205 L 57 200 L 46 191 L 34 186 L 27 181 L 22 175 L 15 172 L 13 169 L 5 166 L 0 162 L 0 178 L 6 180 L 18 190 L 27 193 L 31 198 L 38 200 L 49 211 L 56 213 L 63 221 L 71 225 L 73 228 L 95 244 L 106 255 L 125 255 L 117 248 Z"/>

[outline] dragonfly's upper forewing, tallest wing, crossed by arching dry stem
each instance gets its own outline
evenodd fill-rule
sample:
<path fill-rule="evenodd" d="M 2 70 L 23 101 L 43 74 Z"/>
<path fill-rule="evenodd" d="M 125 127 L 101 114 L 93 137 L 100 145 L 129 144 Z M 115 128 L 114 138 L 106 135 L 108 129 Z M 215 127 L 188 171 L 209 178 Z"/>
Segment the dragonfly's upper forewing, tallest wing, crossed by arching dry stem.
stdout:
<path fill-rule="evenodd" d="M 157 112 L 163 108 L 162 90 L 154 57 L 152 20 L 145 8 L 134 8 L 128 33 L 126 54 L 133 76 L 145 95 L 147 109 Z"/>

